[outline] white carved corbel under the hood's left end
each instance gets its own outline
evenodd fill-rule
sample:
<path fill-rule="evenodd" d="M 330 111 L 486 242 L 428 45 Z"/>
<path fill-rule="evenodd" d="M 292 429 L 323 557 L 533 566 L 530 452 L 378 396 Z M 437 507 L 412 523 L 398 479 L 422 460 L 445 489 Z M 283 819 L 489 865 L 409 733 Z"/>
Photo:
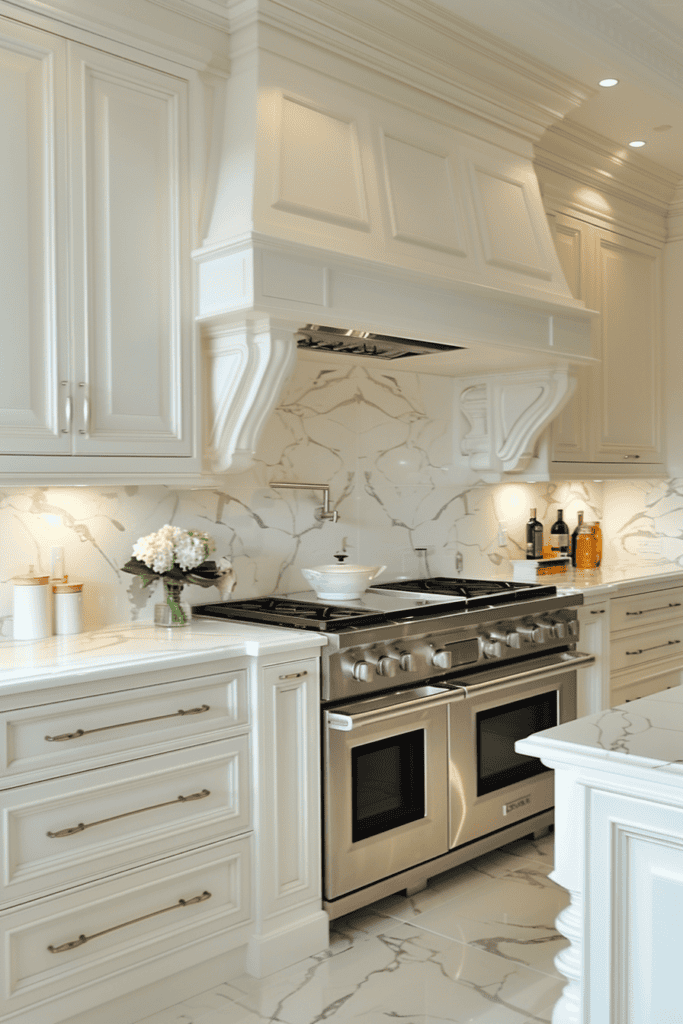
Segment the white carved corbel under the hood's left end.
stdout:
<path fill-rule="evenodd" d="M 207 469 L 239 473 L 252 465 L 266 419 L 296 365 L 291 326 L 268 317 L 203 325 L 208 397 Z"/>

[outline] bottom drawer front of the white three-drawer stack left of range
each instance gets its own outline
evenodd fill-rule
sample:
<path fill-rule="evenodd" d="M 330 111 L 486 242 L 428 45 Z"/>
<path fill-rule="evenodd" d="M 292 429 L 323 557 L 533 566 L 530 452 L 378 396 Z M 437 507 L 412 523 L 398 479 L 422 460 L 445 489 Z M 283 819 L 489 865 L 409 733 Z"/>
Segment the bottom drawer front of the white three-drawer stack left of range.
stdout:
<path fill-rule="evenodd" d="M 252 915 L 250 861 L 250 838 L 232 840 L 0 913 L 0 1016 L 164 955 L 170 974 L 207 936 L 217 956 L 233 948 Z"/>

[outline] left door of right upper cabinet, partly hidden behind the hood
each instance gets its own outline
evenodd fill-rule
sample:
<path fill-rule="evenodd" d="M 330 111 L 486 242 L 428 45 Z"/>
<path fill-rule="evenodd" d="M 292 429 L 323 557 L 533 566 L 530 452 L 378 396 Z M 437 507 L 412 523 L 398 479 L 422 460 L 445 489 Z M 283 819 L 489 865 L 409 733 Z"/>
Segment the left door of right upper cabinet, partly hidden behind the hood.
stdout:
<path fill-rule="evenodd" d="M 581 220 L 557 215 L 550 218 L 562 272 L 574 299 L 591 308 L 590 266 L 594 245 L 592 228 Z M 599 343 L 599 325 L 592 325 L 593 354 Z M 590 392 L 591 368 L 572 367 L 577 388 L 570 401 L 553 423 L 553 452 L 557 462 L 589 462 L 591 459 Z"/>

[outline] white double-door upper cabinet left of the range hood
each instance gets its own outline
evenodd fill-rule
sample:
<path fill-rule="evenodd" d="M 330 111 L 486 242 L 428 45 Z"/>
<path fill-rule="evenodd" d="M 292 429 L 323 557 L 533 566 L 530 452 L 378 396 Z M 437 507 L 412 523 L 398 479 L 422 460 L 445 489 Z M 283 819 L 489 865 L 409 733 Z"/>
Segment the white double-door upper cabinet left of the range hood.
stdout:
<path fill-rule="evenodd" d="M 0 472 L 198 471 L 188 80 L 0 18 Z"/>

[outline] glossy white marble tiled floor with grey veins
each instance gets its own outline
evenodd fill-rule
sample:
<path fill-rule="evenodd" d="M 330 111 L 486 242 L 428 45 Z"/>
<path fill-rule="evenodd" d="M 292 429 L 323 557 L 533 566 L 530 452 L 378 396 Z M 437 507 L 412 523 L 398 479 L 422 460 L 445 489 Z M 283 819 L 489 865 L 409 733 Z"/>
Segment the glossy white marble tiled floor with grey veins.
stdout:
<path fill-rule="evenodd" d="M 551 1019 L 568 899 L 552 836 L 520 841 L 333 922 L 330 949 L 243 975 L 139 1024 L 538 1024 Z"/>

